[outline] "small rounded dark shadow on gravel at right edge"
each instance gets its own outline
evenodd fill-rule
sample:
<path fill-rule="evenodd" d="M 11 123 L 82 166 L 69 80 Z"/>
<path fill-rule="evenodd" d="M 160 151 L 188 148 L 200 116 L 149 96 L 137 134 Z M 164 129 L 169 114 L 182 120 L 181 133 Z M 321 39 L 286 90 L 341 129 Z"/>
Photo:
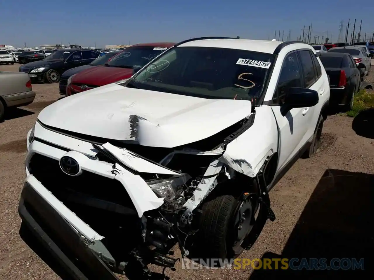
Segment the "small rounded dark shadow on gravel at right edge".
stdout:
<path fill-rule="evenodd" d="M 359 136 L 374 139 L 374 108 L 359 112 L 353 119 L 352 129 Z"/>

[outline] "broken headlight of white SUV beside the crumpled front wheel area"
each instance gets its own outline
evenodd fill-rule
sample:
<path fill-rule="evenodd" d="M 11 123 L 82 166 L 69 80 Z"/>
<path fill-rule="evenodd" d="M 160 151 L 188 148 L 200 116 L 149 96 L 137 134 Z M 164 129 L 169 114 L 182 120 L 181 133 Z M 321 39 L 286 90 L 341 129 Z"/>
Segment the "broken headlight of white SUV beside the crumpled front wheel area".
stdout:
<path fill-rule="evenodd" d="M 158 197 L 167 197 L 168 199 L 174 200 L 180 196 L 183 191 L 183 186 L 190 179 L 190 175 L 182 174 L 169 179 L 153 180 L 147 183 Z"/>

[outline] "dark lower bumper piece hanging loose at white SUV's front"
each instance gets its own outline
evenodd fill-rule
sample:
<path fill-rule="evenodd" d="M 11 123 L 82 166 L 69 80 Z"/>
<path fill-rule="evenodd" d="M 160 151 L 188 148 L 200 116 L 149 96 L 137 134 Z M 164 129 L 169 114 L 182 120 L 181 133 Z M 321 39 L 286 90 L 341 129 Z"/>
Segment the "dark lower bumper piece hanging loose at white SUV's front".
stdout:
<path fill-rule="evenodd" d="M 46 249 L 46 260 L 58 262 L 64 273 L 77 280 L 118 280 L 94 252 L 93 248 L 105 249 L 101 241 L 90 242 L 77 232 L 28 182 L 22 190 L 18 212 L 28 232 Z"/>

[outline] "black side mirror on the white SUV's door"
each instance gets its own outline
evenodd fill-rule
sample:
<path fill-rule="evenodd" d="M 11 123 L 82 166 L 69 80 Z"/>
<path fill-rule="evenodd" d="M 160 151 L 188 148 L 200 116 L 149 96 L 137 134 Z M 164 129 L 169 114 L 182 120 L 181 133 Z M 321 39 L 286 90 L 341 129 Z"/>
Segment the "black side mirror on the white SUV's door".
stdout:
<path fill-rule="evenodd" d="M 318 92 L 309 88 L 291 87 L 285 96 L 284 104 L 292 108 L 312 107 L 318 103 Z"/>

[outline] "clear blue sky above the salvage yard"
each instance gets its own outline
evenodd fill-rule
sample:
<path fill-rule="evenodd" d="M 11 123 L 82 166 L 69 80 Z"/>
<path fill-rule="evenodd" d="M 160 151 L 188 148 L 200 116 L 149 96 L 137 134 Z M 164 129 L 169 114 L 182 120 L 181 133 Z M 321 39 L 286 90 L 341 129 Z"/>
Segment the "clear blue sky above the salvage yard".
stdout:
<path fill-rule="evenodd" d="M 270 39 L 291 29 L 291 39 L 312 23 L 311 37 L 338 38 L 341 19 L 362 19 L 362 36 L 374 31 L 372 1 L 352 0 L 55 0 L 0 1 L 0 44 L 81 44 L 104 47 L 155 41 L 177 42 L 200 36 Z M 366 7 L 365 7 L 366 5 Z M 350 38 L 349 31 L 349 38 Z M 307 32 L 307 31 L 306 31 Z"/>

